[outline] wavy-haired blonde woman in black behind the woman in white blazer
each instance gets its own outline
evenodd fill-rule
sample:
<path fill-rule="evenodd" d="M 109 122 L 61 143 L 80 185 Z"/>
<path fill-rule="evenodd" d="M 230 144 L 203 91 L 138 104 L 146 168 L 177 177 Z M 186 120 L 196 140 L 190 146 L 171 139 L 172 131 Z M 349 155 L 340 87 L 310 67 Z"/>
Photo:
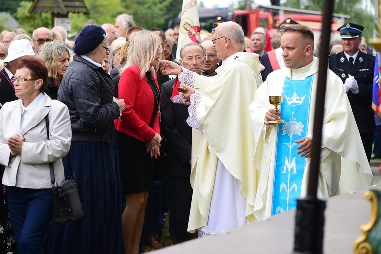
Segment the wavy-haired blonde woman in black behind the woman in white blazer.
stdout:
<path fill-rule="evenodd" d="M 48 87 L 45 93 L 52 99 L 57 99 L 58 87 L 70 63 L 70 50 L 59 41 L 45 43 L 38 53 L 48 68 Z"/>

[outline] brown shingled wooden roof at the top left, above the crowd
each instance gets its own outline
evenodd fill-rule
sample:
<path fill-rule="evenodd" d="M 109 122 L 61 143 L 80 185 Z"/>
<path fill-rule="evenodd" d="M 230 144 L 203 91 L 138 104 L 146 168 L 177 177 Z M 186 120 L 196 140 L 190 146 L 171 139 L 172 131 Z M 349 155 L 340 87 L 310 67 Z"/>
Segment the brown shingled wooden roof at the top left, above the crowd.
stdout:
<path fill-rule="evenodd" d="M 34 0 L 28 10 L 32 12 L 49 12 L 67 15 L 69 12 L 89 14 L 89 10 L 83 0 Z"/>

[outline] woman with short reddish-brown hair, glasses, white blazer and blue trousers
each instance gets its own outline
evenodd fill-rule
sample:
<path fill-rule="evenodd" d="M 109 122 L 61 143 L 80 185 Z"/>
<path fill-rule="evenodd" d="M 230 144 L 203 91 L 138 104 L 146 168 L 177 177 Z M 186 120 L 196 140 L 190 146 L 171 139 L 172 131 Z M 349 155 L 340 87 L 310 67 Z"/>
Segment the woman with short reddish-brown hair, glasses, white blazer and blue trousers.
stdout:
<path fill-rule="evenodd" d="M 37 57 L 25 57 L 12 79 L 19 100 L 0 111 L 2 184 L 8 186 L 8 205 L 19 253 L 43 254 L 43 237 L 52 216 L 49 163 L 57 184 L 64 180 L 61 158 L 71 142 L 69 111 L 43 93 L 48 71 Z M 49 118 L 49 140 L 45 116 Z"/>

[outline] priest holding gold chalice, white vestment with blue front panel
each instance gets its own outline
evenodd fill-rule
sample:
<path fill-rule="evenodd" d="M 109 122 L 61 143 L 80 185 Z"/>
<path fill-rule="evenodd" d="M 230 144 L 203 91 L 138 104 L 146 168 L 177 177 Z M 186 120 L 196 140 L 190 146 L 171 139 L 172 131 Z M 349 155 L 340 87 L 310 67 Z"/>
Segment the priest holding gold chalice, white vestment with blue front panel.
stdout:
<path fill-rule="evenodd" d="M 296 207 L 305 197 L 313 140 L 318 59 L 313 32 L 303 25 L 284 29 L 281 48 L 286 68 L 270 73 L 254 93 L 250 114 L 259 184 L 254 216 L 263 219 Z M 269 96 L 282 95 L 279 111 Z M 271 121 L 283 119 L 285 123 Z M 270 121 L 270 123 L 269 123 Z M 319 198 L 371 185 L 372 172 L 341 80 L 327 73 Z"/>

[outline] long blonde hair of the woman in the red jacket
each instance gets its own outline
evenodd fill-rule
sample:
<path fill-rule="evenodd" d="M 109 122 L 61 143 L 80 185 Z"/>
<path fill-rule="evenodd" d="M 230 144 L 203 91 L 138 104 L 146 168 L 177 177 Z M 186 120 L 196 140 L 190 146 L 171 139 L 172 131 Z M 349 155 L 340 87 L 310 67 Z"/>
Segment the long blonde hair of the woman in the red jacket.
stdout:
<path fill-rule="evenodd" d="M 122 67 L 121 73 L 132 65 L 136 65 L 140 70 L 140 78 L 143 78 L 147 71 L 151 71 L 154 76 L 154 68 L 151 62 L 156 58 L 157 50 L 161 47 L 160 38 L 151 31 L 140 31 L 135 33 L 128 47 L 126 64 Z"/>

